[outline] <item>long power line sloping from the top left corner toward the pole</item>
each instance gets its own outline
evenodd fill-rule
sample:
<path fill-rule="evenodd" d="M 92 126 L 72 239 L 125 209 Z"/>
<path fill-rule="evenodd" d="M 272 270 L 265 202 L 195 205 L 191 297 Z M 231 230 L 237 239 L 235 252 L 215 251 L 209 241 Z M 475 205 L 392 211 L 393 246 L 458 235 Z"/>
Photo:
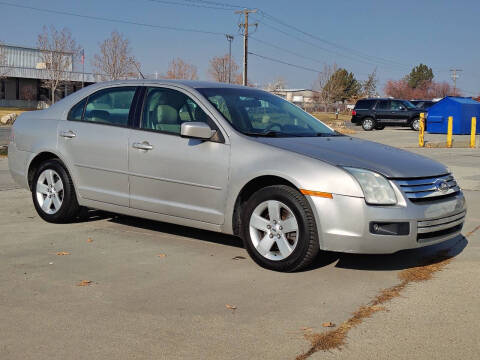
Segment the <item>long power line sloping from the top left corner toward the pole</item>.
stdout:
<path fill-rule="evenodd" d="M 130 20 L 112 19 L 112 18 L 105 18 L 105 17 L 100 17 L 100 16 L 77 14 L 77 13 L 67 12 L 67 11 L 60 11 L 60 10 L 53 10 L 53 9 L 45 9 L 45 8 L 37 8 L 37 7 L 26 6 L 26 5 L 18 5 L 18 4 L 7 3 L 7 2 L 4 2 L 4 1 L 0 1 L 0 5 L 6 5 L 6 6 L 21 8 L 21 9 L 34 10 L 34 11 L 39 11 L 39 12 L 44 12 L 44 13 L 50 13 L 50 14 L 59 14 L 59 15 L 74 16 L 74 17 L 83 18 L 83 19 L 91 19 L 91 20 L 106 21 L 106 22 L 112 22 L 112 23 L 120 23 L 120 24 L 127 24 L 127 25 L 143 26 L 143 27 L 154 28 L 154 29 L 163 29 L 163 30 L 172 30 L 172 31 L 183 31 L 183 32 L 194 32 L 194 33 L 201 33 L 201 34 L 207 34 L 207 35 L 220 35 L 220 36 L 225 36 L 225 33 L 215 32 L 215 31 L 206 31 L 206 30 L 199 30 L 199 29 L 189 29 L 189 28 L 181 28 L 181 27 L 166 26 L 166 25 L 146 24 L 146 23 L 140 23 L 140 22 L 130 21 Z"/>

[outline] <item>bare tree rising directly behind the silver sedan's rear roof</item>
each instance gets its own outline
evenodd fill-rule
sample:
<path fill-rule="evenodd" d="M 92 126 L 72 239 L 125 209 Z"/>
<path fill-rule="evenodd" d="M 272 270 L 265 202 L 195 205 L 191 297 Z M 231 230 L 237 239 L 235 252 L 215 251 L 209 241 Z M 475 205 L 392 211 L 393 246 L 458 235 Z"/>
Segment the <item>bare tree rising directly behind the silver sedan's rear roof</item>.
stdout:
<path fill-rule="evenodd" d="M 118 31 L 113 31 L 100 46 L 100 54 L 95 54 L 92 65 L 103 80 L 120 80 L 137 76 L 140 64 L 131 54 L 130 42 Z"/>

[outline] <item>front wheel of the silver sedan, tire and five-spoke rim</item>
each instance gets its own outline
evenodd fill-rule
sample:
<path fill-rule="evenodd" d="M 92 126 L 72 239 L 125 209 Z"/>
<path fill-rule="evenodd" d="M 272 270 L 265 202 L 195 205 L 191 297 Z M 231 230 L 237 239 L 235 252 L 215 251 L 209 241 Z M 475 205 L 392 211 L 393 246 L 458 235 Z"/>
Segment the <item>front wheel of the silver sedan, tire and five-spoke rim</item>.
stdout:
<path fill-rule="evenodd" d="M 268 186 L 248 199 L 242 211 L 242 238 L 260 266 L 292 272 L 317 257 L 320 246 L 310 205 L 286 185 Z"/>

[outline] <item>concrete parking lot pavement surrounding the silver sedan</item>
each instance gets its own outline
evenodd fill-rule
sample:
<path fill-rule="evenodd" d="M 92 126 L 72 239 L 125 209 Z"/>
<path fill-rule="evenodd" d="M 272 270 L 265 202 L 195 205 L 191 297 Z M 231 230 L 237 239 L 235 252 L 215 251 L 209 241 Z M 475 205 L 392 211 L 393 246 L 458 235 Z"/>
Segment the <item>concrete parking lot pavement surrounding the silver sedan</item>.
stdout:
<path fill-rule="evenodd" d="M 399 138 L 416 134 L 404 131 L 355 136 L 409 147 Z M 409 150 L 456 175 L 463 236 L 393 255 L 327 253 L 293 274 L 259 268 L 239 239 L 207 231 L 95 211 L 45 223 L 0 158 L 0 359 L 295 359 L 310 346 L 305 331 L 341 324 L 442 249 L 454 260 L 433 280 L 352 330 L 343 350 L 311 358 L 479 358 L 480 152 Z"/>

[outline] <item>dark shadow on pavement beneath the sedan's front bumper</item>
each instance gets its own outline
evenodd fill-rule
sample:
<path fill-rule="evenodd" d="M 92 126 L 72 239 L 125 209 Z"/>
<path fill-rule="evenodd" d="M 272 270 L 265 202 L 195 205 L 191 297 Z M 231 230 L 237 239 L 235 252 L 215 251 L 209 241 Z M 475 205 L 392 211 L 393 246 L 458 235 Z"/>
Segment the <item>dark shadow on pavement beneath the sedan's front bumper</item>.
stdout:
<path fill-rule="evenodd" d="M 404 270 L 425 264 L 425 261 L 436 262 L 447 257 L 456 257 L 468 244 L 463 235 L 440 244 L 426 246 L 418 249 L 409 249 L 394 254 L 361 255 L 338 254 L 335 267 L 355 270 Z"/>

